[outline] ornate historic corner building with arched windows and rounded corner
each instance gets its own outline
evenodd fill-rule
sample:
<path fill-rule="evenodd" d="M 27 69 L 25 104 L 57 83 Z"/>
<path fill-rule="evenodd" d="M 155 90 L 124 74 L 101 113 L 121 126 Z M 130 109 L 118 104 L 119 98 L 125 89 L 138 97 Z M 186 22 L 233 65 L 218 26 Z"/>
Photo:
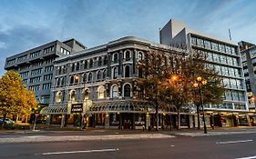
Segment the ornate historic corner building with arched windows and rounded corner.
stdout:
<path fill-rule="evenodd" d="M 138 90 L 138 61 L 154 51 L 177 53 L 167 45 L 127 36 L 55 61 L 51 103 L 40 112 L 50 124 L 142 129 L 152 125 L 156 112 Z M 81 115 L 82 114 L 82 115 Z M 159 109 L 159 125 L 169 125 L 175 109 Z M 84 116 L 84 119 L 81 119 Z M 181 125 L 193 127 L 195 114 L 181 112 Z"/>

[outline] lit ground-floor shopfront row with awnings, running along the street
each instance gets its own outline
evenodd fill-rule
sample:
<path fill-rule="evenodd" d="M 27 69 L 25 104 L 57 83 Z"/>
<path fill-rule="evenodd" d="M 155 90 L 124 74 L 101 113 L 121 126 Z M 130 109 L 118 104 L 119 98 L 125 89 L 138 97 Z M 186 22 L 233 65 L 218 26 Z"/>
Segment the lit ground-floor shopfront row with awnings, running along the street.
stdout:
<path fill-rule="evenodd" d="M 87 103 L 86 103 L 87 104 Z M 153 129 L 157 124 L 156 111 L 153 106 L 139 101 L 98 102 L 83 106 L 74 104 L 80 112 L 72 111 L 73 105 L 58 105 L 41 111 L 46 115 L 46 124 L 59 124 L 81 128 L 95 127 L 107 129 Z M 78 106 L 77 106 L 78 105 Z M 84 109 L 84 111 L 82 110 Z M 68 112 L 68 110 L 72 109 Z M 198 128 L 203 125 L 203 117 L 197 112 L 182 108 L 178 117 L 175 107 L 159 108 L 159 128 L 170 130 L 180 128 Z M 207 127 L 256 125 L 256 117 L 246 113 L 205 112 Z"/>

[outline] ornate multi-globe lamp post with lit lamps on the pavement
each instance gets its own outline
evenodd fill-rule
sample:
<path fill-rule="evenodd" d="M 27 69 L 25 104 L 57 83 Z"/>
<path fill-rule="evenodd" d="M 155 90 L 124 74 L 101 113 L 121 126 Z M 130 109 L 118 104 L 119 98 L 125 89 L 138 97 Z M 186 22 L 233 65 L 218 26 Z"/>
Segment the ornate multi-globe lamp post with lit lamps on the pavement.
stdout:
<path fill-rule="evenodd" d="M 200 104 L 201 104 L 201 108 L 202 108 L 202 121 L 203 121 L 203 130 L 204 130 L 204 134 L 207 134 L 207 128 L 206 128 L 206 123 L 205 123 L 205 116 L 204 116 L 204 108 L 203 108 L 203 99 L 202 99 L 202 86 L 206 85 L 207 81 L 203 80 L 202 77 L 197 77 L 197 82 L 195 84 L 193 84 L 193 87 L 195 88 L 199 88 L 200 90 Z"/>

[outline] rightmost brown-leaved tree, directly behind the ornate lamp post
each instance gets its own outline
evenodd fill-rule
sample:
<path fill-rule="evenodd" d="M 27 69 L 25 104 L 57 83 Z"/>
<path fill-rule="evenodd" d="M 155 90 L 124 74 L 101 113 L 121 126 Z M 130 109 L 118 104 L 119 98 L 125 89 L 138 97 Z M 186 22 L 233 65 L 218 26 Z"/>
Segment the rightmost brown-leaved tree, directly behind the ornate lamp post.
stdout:
<path fill-rule="evenodd" d="M 220 104 L 223 100 L 223 94 L 225 92 L 225 85 L 222 83 L 222 77 L 218 71 L 207 62 L 208 55 L 200 51 L 190 52 L 188 57 L 188 63 L 191 65 L 190 72 L 192 79 L 196 81 L 196 78 L 200 76 L 207 81 L 207 84 L 202 87 L 202 99 L 203 104 Z M 192 102 L 197 107 L 198 114 L 198 128 L 200 129 L 200 93 L 196 90 L 193 91 Z"/>

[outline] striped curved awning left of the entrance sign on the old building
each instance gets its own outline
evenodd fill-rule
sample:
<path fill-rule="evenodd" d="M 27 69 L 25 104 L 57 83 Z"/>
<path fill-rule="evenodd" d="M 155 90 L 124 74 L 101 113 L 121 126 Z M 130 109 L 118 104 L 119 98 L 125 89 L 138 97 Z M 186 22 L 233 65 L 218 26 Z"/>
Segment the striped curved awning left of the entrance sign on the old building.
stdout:
<path fill-rule="evenodd" d="M 67 105 L 46 106 L 40 114 L 67 114 Z"/>

